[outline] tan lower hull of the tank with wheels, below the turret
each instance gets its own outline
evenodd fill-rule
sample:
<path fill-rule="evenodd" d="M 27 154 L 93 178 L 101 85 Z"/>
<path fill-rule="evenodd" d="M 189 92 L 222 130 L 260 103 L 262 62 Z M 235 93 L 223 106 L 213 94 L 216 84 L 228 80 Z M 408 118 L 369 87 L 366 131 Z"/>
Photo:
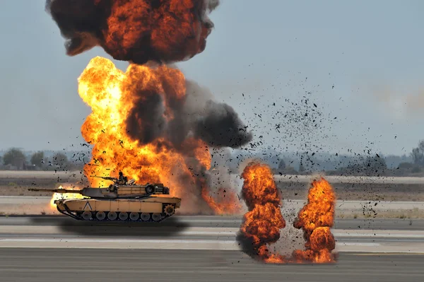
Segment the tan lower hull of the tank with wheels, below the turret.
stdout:
<path fill-rule="evenodd" d="M 150 196 L 144 199 L 61 199 L 57 210 L 82 221 L 160 222 L 173 216 L 181 199 Z"/>

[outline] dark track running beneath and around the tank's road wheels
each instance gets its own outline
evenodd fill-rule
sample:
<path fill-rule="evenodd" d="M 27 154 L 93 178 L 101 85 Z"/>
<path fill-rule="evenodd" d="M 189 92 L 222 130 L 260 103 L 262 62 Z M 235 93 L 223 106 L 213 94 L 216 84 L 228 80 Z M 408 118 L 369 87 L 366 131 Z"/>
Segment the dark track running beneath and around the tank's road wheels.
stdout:
<path fill-rule="evenodd" d="M 71 210 L 69 210 L 69 208 L 67 206 L 65 206 L 65 211 L 61 211 L 59 209 L 59 207 L 57 207 L 57 211 L 59 211 L 59 213 L 64 214 L 65 216 L 69 216 L 71 218 L 75 218 L 78 221 L 96 221 L 96 222 L 119 222 L 120 221 L 120 222 L 149 222 L 149 223 L 160 223 L 160 222 L 165 221 L 165 219 L 170 218 L 171 216 L 173 216 L 175 214 L 175 213 L 167 214 L 165 212 L 159 213 L 160 216 L 161 216 L 161 218 L 158 221 L 155 221 L 155 220 L 153 220 L 153 213 L 148 213 L 149 214 L 149 218 L 148 218 L 147 221 L 144 221 L 141 218 L 141 213 L 139 213 L 138 219 L 136 219 L 136 220 L 130 218 L 130 216 L 129 216 L 130 212 L 122 212 L 122 213 L 127 213 L 127 217 L 126 217 L 125 220 L 122 220 L 121 218 L 119 218 L 119 213 L 117 213 L 117 217 L 114 220 L 110 220 L 108 218 L 108 216 L 107 216 L 107 214 L 110 211 L 104 211 L 105 214 L 106 214 L 106 216 L 103 219 L 98 219 L 96 217 L 96 214 L 99 211 L 91 211 L 92 216 L 91 216 L 91 218 L 88 218 L 88 219 L 83 218 L 83 211 L 71 211 Z"/>

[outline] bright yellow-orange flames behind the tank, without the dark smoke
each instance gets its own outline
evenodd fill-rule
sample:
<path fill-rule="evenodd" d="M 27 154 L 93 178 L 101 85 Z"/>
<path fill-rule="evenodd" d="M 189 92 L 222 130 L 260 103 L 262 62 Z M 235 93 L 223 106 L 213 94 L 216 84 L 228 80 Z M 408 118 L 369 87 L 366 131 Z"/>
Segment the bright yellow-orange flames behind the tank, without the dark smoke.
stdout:
<path fill-rule="evenodd" d="M 189 137 L 184 140 L 183 155 L 166 136 L 141 144 L 127 134 L 126 119 L 131 110 L 139 100 L 148 98 L 136 97 L 137 89 L 143 89 L 146 95 L 159 93 L 163 98 L 163 116 L 167 120 L 174 118 L 169 104 L 184 99 L 186 93 L 181 71 L 164 65 L 152 69 L 130 64 L 124 73 L 109 59 L 95 57 L 78 78 L 78 83 L 81 98 L 92 109 L 81 128 L 84 139 L 94 144 L 92 160 L 84 167 L 91 186 L 108 184 L 94 175 L 116 176 L 122 171 L 136 182 L 160 182 L 170 187 L 170 196 L 182 198 L 187 206 L 190 204 L 190 213 L 205 213 L 206 205 L 220 214 L 235 203 L 230 203 L 234 200 L 232 196 L 222 204 L 220 199 L 208 196 L 204 175 L 198 172 L 211 168 L 211 154 L 201 139 Z M 139 117 L 136 122 L 143 128 L 150 121 Z M 184 205 L 181 211 L 184 212 Z M 237 205 L 229 212 L 233 211 L 237 211 Z"/>

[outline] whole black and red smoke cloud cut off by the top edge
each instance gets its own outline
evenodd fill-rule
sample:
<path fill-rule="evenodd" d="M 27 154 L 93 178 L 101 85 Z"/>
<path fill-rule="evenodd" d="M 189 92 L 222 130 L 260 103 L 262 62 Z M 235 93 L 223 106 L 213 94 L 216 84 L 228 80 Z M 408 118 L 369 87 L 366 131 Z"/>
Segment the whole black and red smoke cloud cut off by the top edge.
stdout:
<path fill-rule="evenodd" d="M 47 0 L 66 39 L 66 54 L 95 46 L 114 59 L 145 64 L 183 61 L 204 51 L 218 0 Z M 187 8 L 188 7 L 188 8 Z"/>

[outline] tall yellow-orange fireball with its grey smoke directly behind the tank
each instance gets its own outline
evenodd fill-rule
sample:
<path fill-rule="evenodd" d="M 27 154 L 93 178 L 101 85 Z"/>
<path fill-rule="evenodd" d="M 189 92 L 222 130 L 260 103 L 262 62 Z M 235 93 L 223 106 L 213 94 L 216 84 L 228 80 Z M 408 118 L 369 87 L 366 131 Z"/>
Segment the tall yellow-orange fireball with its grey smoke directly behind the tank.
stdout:
<path fill-rule="evenodd" d="M 186 203 L 182 212 L 210 212 L 209 146 L 238 146 L 250 136 L 238 130 L 242 123 L 232 108 L 213 100 L 202 102 L 196 97 L 199 90 L 168 66 L 131 64 L 124 73 L 108 59 L 92 59 L 78 87 L 93 111 L 81 129 L 94 145 L 85 167 L 90 184 L 102 184 L 93 175 L 117 175 L 122 170 L 137 182 L 171 187 L 171 195 Z"/>

